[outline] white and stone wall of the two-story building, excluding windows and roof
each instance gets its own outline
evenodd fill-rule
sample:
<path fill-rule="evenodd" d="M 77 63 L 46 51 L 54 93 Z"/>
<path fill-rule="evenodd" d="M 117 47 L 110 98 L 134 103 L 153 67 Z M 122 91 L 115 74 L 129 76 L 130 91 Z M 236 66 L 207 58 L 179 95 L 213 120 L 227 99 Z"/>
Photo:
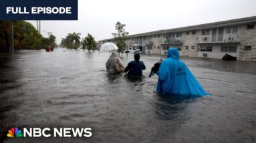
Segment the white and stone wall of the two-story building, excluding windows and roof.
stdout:
<path fill-rule="evenodd" d="M 232 26 L 231 26 L 232 27 Z M 189 35 L 186 35 L 186 31 L 182 32 L 182 37 L 174 37 L 175 39 L 180 39 L 182 43 L 174 43 L 173 45 L 170 43 L 165 43 L 164 34 L 155 34 L 155 35 L 144 35 L 143 37 L 148 37 L 147 39 L 143 39 L 142 43 L 140 43 L 140 47 L 145 47 L 145 53 L 154 53 L 154 54 L 166 54 L 166 50 L 162 49 L 163 45 L 167 45 L 170 47 L 177 47 L 182 49 L 180 55 L 188 56 L 188 57 L 204 57 L 203 53 L 207 53 L 208 58 L 221 59 L 226 53 L 221 52 L 221 46 L 231 46 L 237 45 L 236 53 L 228 53 L 229 55 L 233 55 L 237 57 L 237 60 L 242 61 L 256 61 L 256 25 L 254 23 L 254 29 L 247 29 L 247 24 L 237 25 L 237 33 L 227 33 L 227 27 L 223 27 L 223 40 L 213 41 L 213 29 L 219 29 L 219 27 L 210 28 L 209 35 L 202 35 L 202 30 L 199 29 L 196 31 L 196 34 L 192 34 L 192 31 L 189 31 Z M 174 32 L 177 33 L 177 32 Z M 217 38 L 219 31 L 217 30 Z M 158 37 L 158 35 L 160 35 Z M 207 37 L 207 40 L 204 40 Z M 130 37 L 126 41 L 126 45 L 128 47 L 132 47 L 134 45 L 137 37 Z M 110 40 L 106 40 L 110 41 Z M 106 42 L 104 41 L 104 42 Z M 100 41 L 100 44 L 104 43 Z M 148 49 L 147 45 L 152 45 L 152 49 Z M 245 50 L 245 46 L 250 45 L 251 50 Z M 186 46 L 188 48 L 186 48 Z M 201 46 L 209 46 L 213 47 L 213 51 L 199 51 Z M 193 48 L 194 47 L 194 48 Z"/>

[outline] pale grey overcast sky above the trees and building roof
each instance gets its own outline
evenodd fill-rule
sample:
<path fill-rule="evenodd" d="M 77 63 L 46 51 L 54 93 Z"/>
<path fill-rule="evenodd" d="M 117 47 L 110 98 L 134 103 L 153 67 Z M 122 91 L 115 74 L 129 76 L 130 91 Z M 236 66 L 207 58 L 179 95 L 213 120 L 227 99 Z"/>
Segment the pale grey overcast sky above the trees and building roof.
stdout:
<path fill-rule="evenodd" d="M 256 15 L 255 0 L 78 0 L 78 21 L 41 21 L 57 43 L 68 33 L 112 38 L 117 21 L 132 34 Z M 35 21 L 29 21 L 36 27 Z"/>

